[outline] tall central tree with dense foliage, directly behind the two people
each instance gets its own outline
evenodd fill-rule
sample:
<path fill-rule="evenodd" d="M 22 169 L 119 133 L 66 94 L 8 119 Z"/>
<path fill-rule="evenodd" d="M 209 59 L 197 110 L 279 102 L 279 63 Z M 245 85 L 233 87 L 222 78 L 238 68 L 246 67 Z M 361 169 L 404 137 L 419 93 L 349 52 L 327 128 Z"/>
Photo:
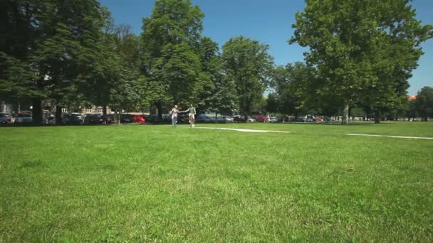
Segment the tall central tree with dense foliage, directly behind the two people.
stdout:
<path fill-rule="evenodd" d="M 159 110 L 163 102 L 187 103 L 204 90 L 199 48 L 203 17 L 189 0 L 159 0 L 152 16 L 143 19 L 142 66 Z"/>

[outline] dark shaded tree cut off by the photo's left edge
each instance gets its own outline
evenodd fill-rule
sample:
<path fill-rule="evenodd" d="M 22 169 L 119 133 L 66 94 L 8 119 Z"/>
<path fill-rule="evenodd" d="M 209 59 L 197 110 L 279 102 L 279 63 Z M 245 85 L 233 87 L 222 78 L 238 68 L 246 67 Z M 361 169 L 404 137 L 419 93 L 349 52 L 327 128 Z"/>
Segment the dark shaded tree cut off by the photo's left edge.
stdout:
<path fill-rule="evenodd" d="M 36 87 L 29 62 L 45 8 L 42 1 L 0 1 L 0 95 L 10 102 L 46 96 Z"/>

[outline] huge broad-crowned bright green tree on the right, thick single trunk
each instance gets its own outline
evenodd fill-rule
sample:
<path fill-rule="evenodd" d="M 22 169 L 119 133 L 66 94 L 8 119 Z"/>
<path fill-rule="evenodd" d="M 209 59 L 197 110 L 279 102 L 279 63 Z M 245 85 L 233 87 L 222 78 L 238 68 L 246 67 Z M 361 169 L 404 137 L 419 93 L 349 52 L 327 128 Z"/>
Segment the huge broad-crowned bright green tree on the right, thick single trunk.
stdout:
<path fill-rule="evenodd" d="M 310 48 L 306 61 L 320 82 L 315 94 L 343 104 L 343 124 L 360 99 L 375 109 L 402 101 L 419 44 L 432 35 L 414 17 L 409 0 L 306 0 L 296 13 L 290 43 Z"/>

